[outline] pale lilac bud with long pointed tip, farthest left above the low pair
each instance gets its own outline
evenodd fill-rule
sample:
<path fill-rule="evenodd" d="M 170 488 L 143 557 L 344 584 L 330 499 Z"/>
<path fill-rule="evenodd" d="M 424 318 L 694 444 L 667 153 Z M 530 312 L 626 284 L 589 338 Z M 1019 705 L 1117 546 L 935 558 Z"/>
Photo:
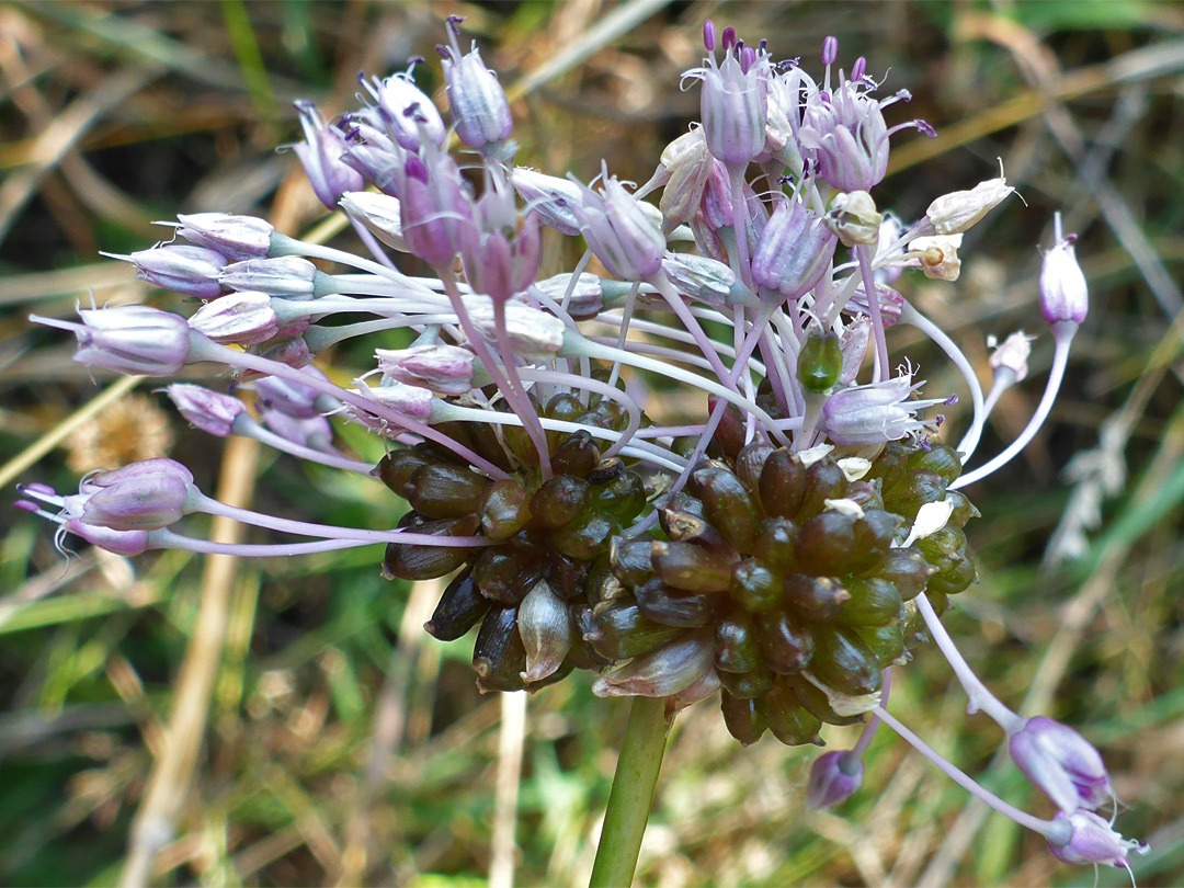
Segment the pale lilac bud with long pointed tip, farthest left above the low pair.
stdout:
<path fill-rule="evenodd" d="M 180 315 L 148 305 L 83 309 L 82 323 L 30 315 L 34 323 L 70 330 L 79 363 L 117 373 L 172 377 L 189 358 L 189 328 Z"/>

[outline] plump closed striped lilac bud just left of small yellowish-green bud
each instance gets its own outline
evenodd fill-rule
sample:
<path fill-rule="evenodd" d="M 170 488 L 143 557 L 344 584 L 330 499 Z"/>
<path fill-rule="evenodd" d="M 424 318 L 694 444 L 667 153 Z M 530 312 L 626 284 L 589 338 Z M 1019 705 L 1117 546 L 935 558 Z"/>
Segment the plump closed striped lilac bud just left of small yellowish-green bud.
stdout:
<path fill-rule="evenodd" d="M 802 201 L 781 200 L 753 251 L 752 279 L 789 300 L 800 298 L 822 281 L 837 243 Z"/>

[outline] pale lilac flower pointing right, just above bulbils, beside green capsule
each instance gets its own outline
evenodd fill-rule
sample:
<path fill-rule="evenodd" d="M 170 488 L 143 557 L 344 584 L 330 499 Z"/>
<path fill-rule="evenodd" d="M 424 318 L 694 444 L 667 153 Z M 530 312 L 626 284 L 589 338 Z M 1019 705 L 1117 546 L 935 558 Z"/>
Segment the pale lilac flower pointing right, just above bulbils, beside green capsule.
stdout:
<path fill-rule="evenodd" d="M 935 400 L 910 400 L 921 387 L 905 373 L 883 382 L 843 388 L 822 406 L 823 427 L 835 444 L 883 444 L 921 431 L 925 423 L 919 411 L 941 404 Z"/>

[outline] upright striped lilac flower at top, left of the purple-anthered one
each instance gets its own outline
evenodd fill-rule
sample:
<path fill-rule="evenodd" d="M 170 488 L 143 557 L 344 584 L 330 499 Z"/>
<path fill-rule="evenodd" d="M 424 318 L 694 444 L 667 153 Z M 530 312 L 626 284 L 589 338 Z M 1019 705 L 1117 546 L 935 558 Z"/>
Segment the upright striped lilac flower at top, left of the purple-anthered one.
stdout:
<path fill-rule="evenodd" d="M 725 32 L 727 36 L 727 32 Z M 764 53 L 740 58 L 725 40 L 723 64 L 707 58 L 703 67 L 683 77 L 703 82 L 700 110 L 703 135 L 712 156 L 729 167 L 746 167 L 765 150 L 765 122 L 768 116 L 770 65 Z"/>

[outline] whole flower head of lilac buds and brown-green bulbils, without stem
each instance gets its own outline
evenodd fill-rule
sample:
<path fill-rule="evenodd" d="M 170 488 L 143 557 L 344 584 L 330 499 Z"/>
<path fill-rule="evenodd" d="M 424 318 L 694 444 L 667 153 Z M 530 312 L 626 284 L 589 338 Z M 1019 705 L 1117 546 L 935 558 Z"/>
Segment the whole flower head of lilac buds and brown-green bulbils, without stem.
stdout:
<path fill-rule="evenodd" d="M 170 459 L 88 477 L 72 496 L 30 484 L 21 508 L 122 554 L 384 542 L 387 575 L 455 572 L 427 630 L 450 641 L 480 624 L 483 689 L 539 688 L 583 668 L 599 674 L 598 694 L 665 697 L 671 710 L 719 691 L 742 744 L 766 728 L 786 744 L 821 742 L 823 722 L 870 715 L 854 749 L 816 762 L 812 803 L 855 791 L 860 755 L 886 722 L 1061 860 L 1127 867 L 1143 849 L 1094 813 L 1113 800 L 1096 751 L 1072 728 L 1008 710 L 939 620 L 946 597 L 976 575 L 961 528 L 977 513 L 959 488 L 1040 427 L 1086 316 L 1060 220 L 1040 282 L 1055 345 L 1045 395 L 1009 448 L 964 474 L 991 407 L 1027 374 L 1031 337 L 1016 333 L 996 349 L 984 397 L 957 345 L 895 283 L 906 269 L 958 277 L 963 232 L 1012 191 L 1002 175 L 938 198 L 912 225 L 881 213 L 870 189 L 890 136 L 932 135 L 918 121 L 886 126 L 884 108 L 907 94 L 876 98 L 862 58 L 849 75 L 837 70 L 834 38 L 816 82 L 732 28 L 718 39 L 710 22 L 704 64 L 686 75 L 701 82 L 702 122 L 667 148 L 649 182 L 631 192 L 606 169 L 599 188 L 545 175 L 513 166 L 506 94 L 475 49 L 462 51 L 458 20 L 448 27 L 452 133 L 476 155 L 466 173 L 445 150 L 449 128 L 416 86 L 414 64 L 362 79 L 365 107 L 332 124 L 297 104 L 296 154 L 369 257 L 260 219 L 182 215 L 187 243 L 124 258 L 141 277 L 206 300 L 191 317 L 127 307 L 84 310 L 81 323 L 37 318 L 72 330 L 77 359 L 94 366 L 150 377 L 197 361 L 233 368 L 239 390 L 255 392 L 255 414 L 232 394 L 166 392 L 213 435 L 375 475 L 411 507 L 399 526 L 231 508 Z M 658 189 L 656 205 L 641 199 Z M 573 272 L 540 278 L 543 229 L 583 237 Z M 388 250 L 436 277 L 407 276 Z M 590 274 L 592 257 L 616 279 Z M 704 322 L 732 333 L 713 337 Z M 937 437 L 940 417 L 920 416 L 952 399 L 919 399 L 907 365 L 892 373 L 893 324 L 920 329 L 965 378 L 973 420 L 957 446 Z M 390 330 L 413 341 L 377 348 L 377 368 L 353 387 L 313 363 L 339 342 Z M 700 420 L 667 424 L 676 422 L 661 408 L 668 392 L 696 393 Z M 334 446 L 334 413 L 388 442 L 377 468 Z M 175 529 L 193 511 L 311 539 L 213 543 Z M 1055 818 L 1008 806 L 887 712 L 890 669 L 926 638 L 971 709 L 1006 732 L 1016 762 L 1060 807 Z"/>

